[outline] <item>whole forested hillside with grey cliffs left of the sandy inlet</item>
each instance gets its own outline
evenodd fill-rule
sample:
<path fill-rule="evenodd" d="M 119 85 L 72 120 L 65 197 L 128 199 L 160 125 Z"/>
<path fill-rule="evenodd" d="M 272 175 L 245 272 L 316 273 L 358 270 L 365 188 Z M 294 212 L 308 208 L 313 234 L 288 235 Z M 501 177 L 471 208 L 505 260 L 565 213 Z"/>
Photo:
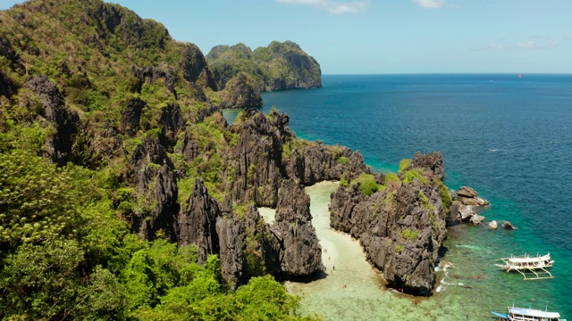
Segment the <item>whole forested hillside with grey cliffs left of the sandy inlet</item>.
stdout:
<path fill-rule="evenodd" d="M 0 317 L 299 318 L 270 274 L 321 263 L 286 271 L 252 206 L 295 177 L 282 153 L 317 144 L 277 111 L 229 127 L 198 47 L 127 8 L 32 0 L 0 21 Z"/>

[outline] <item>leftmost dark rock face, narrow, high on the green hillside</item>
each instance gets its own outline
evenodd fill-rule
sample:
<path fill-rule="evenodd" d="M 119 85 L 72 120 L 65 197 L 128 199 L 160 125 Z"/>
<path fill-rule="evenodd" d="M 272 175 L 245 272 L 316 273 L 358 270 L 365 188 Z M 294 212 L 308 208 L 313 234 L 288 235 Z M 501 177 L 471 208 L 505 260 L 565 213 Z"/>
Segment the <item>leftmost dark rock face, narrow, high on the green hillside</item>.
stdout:
<path fill-rule="evenodd" d="M 46 157 L 59 165 L 65 164 L 71 154 L 72 136 L 77 132 L 80 117 L 76 112 L 68 111 L 62 93 L 46 76 L 30 78 L 24 87 L 39 96 L 42 103 L 40 116 L 55 128 L 55 134 L 46 137 Z"/>

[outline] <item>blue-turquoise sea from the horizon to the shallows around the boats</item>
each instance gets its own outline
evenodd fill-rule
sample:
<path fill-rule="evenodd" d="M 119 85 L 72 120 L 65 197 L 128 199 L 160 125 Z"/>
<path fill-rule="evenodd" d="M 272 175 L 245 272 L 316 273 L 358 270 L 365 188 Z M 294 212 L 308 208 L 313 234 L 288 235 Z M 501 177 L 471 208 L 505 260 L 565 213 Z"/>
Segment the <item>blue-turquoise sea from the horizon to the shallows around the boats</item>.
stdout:
<path fill-rule="evenodd" d="M 451 188 L 474 187 L 492 203 L 487 221 L 518 227 L 451 228 L 445 259 L 456 268 L 429 300 L 461 301 L 475 320 L 513 303 L 572 318 L 572 75 L 324 76 L 322 88 L 263 98 L 263 111 L 288 113 L 299 137 L 359 150 L 376 170 L 441 151 Z M 547 251 L 556 260 L 551 280 L 492 265 Z"/>

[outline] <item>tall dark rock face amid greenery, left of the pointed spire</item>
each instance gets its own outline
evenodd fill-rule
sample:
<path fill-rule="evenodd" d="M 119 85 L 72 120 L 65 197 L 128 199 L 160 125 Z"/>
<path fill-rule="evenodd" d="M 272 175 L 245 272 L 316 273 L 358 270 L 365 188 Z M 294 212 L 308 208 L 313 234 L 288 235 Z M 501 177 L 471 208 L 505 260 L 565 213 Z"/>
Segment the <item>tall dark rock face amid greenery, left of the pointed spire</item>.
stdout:
<path fill-rule="evenodd" d="M 135 149 L 129 165 L 138 204 L 133 209 L 133 231 L 147 240 L 163 231 L 175 242 L 179 190 L 171 159 L 156 139 L 147 138 Z"/>

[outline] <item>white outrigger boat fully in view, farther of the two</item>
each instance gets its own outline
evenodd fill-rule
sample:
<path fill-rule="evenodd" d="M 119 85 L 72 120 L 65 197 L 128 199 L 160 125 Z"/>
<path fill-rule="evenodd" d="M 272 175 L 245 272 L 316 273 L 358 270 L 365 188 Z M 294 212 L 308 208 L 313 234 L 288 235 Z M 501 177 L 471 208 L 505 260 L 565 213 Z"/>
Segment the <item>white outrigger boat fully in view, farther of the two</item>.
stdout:
<path fill-rule="evenodd" d="M 554 264 L 551 259 L 551 253 L 541 256 L 530 256 L 528 254 L 522 256 L 511 256 L 510 258 L 500 259 L 502 264 L 495 264 L 499 268 L 506 269 L 507 272 L 517 271 L 525 280 L 538 280 L 543 278 L 552 278 L 551 272 L 548 268 Z"/>

